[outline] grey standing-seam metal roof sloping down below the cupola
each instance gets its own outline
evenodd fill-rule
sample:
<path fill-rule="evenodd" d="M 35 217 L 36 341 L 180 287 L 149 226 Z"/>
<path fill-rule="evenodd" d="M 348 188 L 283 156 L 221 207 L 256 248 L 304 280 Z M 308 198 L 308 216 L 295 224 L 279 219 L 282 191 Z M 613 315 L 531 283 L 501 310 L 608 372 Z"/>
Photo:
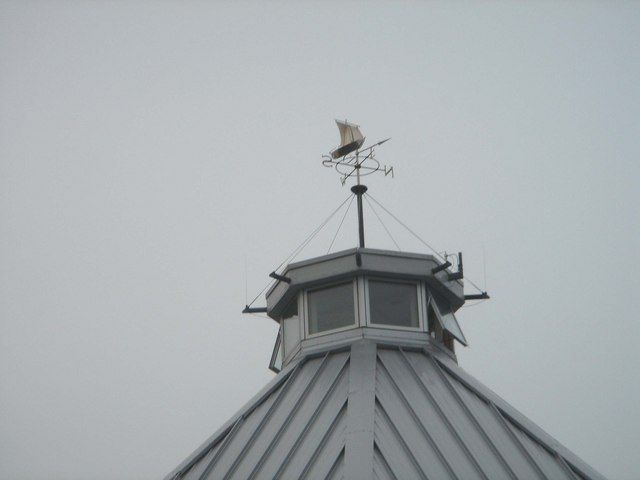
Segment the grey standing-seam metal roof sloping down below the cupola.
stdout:
<path fill-rule="evenodd" d="M 167 479 L 602 479 L 429 346 L 302 358 Z"/>

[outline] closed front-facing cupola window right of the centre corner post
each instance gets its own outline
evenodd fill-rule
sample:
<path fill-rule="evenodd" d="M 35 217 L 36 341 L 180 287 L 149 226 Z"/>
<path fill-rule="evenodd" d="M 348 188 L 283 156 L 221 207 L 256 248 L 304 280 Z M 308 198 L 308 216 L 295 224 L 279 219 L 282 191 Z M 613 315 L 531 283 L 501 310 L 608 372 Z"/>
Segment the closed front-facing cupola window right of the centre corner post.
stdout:
<path fill-rule="evenodd" d="M 418 291 L 413 283 L 369 280 L 371 323 L 418 327 Z"/>

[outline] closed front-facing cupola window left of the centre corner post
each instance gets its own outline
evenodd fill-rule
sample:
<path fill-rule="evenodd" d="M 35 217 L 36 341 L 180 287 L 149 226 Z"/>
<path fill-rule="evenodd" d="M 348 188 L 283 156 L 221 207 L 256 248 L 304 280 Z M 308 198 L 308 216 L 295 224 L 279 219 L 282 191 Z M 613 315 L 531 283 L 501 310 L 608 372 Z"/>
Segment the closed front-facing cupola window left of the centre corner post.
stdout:
<path fill-rule="evenodd" d="M 319 333 L 356 323 L 353 282 L 307 293 L 309 333 Z"/>

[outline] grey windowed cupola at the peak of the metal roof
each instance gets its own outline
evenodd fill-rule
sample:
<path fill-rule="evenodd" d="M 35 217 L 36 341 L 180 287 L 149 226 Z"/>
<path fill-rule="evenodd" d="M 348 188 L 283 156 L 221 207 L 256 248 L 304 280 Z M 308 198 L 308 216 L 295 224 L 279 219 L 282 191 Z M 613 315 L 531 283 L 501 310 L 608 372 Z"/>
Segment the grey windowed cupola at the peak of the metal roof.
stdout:
<path fill-rule="evenodd" d="M 453 354 L 455 341 L 467 343 L 454 313 L 465 299 L 462 280 L 443 265 L 433 255 L 370 248 L 288 265 L 266 295 L 267 314 L 280 324 L 270 367 L 369 336 Z"/>

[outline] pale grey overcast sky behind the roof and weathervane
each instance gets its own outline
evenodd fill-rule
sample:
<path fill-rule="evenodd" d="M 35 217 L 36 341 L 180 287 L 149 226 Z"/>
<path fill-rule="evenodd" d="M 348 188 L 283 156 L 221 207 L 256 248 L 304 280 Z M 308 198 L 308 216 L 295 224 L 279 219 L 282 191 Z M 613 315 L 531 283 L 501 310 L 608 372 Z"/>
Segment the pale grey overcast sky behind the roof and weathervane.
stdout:
<path fill-rule="evenodd" d="M 460 365 L 638 478 L 638 85 L 638 2 L 0 0 L 0 478 L 161 478 L 273 378 L 240 312 L 349 195 L 334 118 L 492 296 Z"/>

